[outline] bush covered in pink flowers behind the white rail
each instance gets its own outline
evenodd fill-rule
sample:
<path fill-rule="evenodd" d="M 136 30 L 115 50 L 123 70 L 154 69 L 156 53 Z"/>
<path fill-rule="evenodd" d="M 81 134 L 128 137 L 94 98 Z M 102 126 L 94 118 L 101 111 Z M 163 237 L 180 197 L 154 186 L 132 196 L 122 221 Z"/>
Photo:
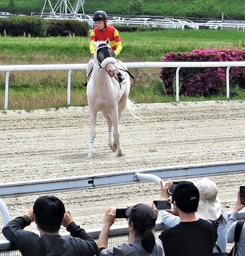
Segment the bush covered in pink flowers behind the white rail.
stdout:
<path fill-rule="evenodd" d="M 245 52 L 240 48 L 196 49 L 190 52 L 169 52 L 163 61 L 244 61 Z M 161 68 L 160 78 L 166 93 L 173 94 L 177 68 Z M 226 90 L 226 67 L 180 68 L 180 94 L 186 96 L 209 96 L 223 94 Z M 230 86 L 245 87 L 245 68 L 230 68 Z"/>

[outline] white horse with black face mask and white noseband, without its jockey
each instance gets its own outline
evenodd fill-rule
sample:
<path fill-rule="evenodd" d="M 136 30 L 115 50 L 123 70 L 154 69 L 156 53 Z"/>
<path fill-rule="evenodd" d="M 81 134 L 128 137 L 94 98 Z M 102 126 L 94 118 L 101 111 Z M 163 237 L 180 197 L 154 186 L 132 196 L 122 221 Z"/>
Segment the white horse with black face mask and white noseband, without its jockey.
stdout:
<path fill-rule="evenodd" d="M 125 156 L 120 145 L 118 123 L 126 106 L 133 114 L 133 111 L 130 110 L 132 101 L 128 99 L 130 77 L 126 71 L 123 71 L 127 70 L 126 66 L 115 59 L 115 53 L 109 45 L 109 38 L 106 41 L 96 42 L 95 47 L 93 71 L 87 86 L 89 119 L 91 123 L 88 157 L 92 157 L 93 154 L 93 143 L 96 137 L 96 115 L 99 111 L 102 111 L 108 123 L 108 145 L 110 149 L 112 151 L 118 150 L 118 156 Z M 117 67 L 123 69 L 122 74 L 125 77 L 121 84 L 115 78 Z"/>

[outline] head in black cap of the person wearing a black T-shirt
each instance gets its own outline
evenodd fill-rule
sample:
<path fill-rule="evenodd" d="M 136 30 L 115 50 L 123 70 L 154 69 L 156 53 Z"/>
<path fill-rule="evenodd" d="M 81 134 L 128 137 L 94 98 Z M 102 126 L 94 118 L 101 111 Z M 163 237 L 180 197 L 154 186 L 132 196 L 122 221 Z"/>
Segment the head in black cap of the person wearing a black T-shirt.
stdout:
<path fill-rule="evenodd" d="M 199 204 L 199 190 L 189 181 L 180 182 L 173 191 L 172 200 L 177 208 L 186 214 L 197 211 Z"/>

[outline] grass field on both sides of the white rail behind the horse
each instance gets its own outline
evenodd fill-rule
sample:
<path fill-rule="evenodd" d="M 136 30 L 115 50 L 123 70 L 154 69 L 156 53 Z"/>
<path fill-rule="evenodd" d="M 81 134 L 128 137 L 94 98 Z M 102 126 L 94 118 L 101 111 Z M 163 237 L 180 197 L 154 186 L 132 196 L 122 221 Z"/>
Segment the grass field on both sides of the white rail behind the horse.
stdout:
<path fill-rule="evenodd" d="M 119 58 L 125 62 L 161 61 L 167 52 L 191 51 L 195 48 L 244 48 L 245 32 L 207 30 L 176 30 L 122 32 L 123 51 Z M 87 63 L 88 38 L 13 38 L 1 37 L 0 65 L 6 64 L 63 64 Z M 130 68 L 135 76 L 130 98 L 140 102 L 170 102 L 175 97 L 165 95 L 159 79 L 159 68 Z M 72 106 L 85 106 L 86 90 L 82 86 L 85 71 L 72 72 Z M 66 106 L 67 71 L 12 72 L 9 81 L 9 109 L 48 109 Z M 5 74 L 0 73 L 0 109 L 4 109 Z M 235 90 L 235 89 L 232 89 Z M 244 90 L 236 88 L 245 99 Z M 220 100 L 212 98 L 180 97 L 185 100 Z"/>

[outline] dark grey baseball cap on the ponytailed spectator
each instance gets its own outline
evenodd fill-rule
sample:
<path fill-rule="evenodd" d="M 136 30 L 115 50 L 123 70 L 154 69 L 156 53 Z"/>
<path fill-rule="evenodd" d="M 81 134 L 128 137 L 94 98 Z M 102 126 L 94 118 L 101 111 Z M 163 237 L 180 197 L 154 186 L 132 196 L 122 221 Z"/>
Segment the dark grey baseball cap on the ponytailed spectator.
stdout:
<path fill-rule="evenodd" d="M 157 212 L 146 204 L 130 206 L 126 210 L 126 216 L 133 222 L 136 228 L 154 228 L 157 219 Z"/>

